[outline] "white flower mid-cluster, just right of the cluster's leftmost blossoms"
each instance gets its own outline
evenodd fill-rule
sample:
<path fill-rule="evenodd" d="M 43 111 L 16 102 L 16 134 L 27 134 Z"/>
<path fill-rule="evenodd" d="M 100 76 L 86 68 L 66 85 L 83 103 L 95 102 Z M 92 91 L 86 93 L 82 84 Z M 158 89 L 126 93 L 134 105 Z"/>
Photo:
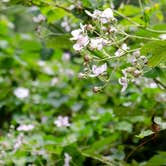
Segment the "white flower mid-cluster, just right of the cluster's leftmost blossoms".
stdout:
<path fill-rule="evenodd" d="M 101 50 L 103 48 L 103 46 L 105 46 L 107 44 L 107 41 L 103 38 L 92 38 L 90 40 L 90 47 L 91 49 L 97 49 L 97 50 Z"/>

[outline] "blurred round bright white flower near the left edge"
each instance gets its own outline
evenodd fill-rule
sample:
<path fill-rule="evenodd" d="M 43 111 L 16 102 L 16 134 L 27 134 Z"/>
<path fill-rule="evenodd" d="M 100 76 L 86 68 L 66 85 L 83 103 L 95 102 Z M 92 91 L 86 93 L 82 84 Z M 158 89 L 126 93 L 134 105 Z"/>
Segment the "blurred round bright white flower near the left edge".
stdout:
<path fill-rule="evenodd" d="M 20 99 L 24 99 L 29 96 L 29 89 L 18 87 L 14 90 L 14 95 Z"/>

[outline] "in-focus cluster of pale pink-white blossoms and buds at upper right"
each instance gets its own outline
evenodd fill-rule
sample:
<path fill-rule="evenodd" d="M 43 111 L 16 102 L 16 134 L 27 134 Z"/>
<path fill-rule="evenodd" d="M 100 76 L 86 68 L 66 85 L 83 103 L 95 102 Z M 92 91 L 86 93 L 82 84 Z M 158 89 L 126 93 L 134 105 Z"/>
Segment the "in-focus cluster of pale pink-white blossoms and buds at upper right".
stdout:
<path fill-rule="evenodd" d="M 126 44 L 126 39 L 129 38 L 129 35 L 123 27 L 117 25 L 111 8 L 107 8 L 104 11 L 94 10 L 94 12 L 85 10 L 85 13 L 92 18 L 92 24 L 80 24 L 79 29 L 71 32 L 71 40 L 76 41 L 73 49 L 81 51 L 81 54 L 86 53 L 89 55 L 88 58 L 84 58 L 85 68 L 84 72 L 79 74 L 79 78 L 104 76 L 109 63 L 98 66 L 94 62 L 98 61 L 99 63 L 97 62 L 97 64 L 100 64 L 100 61 L 111 61 L 111 59 L 118 59 L 126 55 L 128 57 L 126 59 L 131 66 L 123 69 L 123 76 L 119 78 L 119 84 L 122 85 L 121 92 L 124 92 L 128 87 L 128 82 L 134 82 L 133 80 L 142 74 L 143 68 L 147 64 L 147 58 L 141 55 L 139 49 L 131 50 Z M 165 34 L 159 37 L 164 40 Z M 100 52 L 102 54 L 101 57 L 93 55 L 94 51 Z M 87 56 L 84 55 L 84 57 Z M 100 80 L 106 82 L 107 77 L 102 77 Z M 96 86 L 93 89 L 93 91 L 98 92 L 102 87 Z"/>

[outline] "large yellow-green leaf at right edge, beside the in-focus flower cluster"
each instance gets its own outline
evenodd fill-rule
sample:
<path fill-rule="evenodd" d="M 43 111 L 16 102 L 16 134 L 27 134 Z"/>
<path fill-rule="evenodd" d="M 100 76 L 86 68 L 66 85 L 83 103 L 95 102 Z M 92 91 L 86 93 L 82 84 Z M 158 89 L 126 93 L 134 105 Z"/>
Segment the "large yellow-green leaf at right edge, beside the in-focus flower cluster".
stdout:
<path fill-rule="evenodd" d="M 155 67 L 166 60 L 166 41 L 148 42 L 141 48 L 141 53 L 148 56 L 148 66 Z"/>

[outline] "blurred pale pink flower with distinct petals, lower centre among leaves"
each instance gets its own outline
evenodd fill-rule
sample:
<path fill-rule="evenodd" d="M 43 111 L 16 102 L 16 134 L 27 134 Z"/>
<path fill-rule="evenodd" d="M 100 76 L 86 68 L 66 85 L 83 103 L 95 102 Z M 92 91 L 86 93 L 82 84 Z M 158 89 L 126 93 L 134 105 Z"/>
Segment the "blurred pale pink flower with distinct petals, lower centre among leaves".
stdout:
<path fill-rule="evenodd" d="M 68 127 L 68 126 L 70 126 L 69 118 L 67 116 L 65 116 L 65 117 L 58 116 L 58 118 L 54 121 L 54 124 L 57 127 Z"/>

